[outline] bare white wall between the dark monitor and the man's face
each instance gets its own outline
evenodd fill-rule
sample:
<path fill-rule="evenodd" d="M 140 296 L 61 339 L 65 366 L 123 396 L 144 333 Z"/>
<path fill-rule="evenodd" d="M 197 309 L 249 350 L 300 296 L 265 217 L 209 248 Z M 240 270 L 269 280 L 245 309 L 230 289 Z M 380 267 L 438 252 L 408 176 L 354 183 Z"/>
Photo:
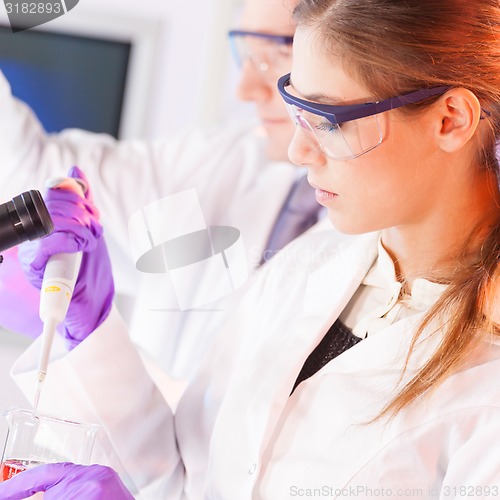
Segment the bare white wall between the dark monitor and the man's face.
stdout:
<path fill-rule="evenodd" d="M 66 16 L 77 16 L 81 10 L 158 22 L 151 98 L 146 103 L 146 136 L 158 137 L 190 124 L 213 124 L 235 117 L 230 111 L 235 109 L 234 92 L 228 91 L 227 85 L 228 80 L 233 83 L 234 71 L 226 33 L 239 3 L 81 0 Z"/>

